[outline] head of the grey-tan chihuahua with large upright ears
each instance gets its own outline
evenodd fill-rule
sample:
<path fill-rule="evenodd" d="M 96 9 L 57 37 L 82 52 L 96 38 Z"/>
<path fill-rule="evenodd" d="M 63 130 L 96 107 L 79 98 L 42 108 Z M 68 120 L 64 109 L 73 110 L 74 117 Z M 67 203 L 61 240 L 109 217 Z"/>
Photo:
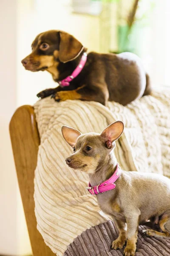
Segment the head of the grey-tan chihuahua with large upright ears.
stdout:
<path fill-rule="evenodd" d="M 123 130 L 124 124 L 121 121 L 113 122 L 101 134 L 81 134 L 74 128 L 62 126 L 62 135 L 73 148 L 73 154 L 65 159 L 66 163 L 71 168 L 94 174 L 105 164 L 116 145 L 115 140 L 119 139 Z"/>

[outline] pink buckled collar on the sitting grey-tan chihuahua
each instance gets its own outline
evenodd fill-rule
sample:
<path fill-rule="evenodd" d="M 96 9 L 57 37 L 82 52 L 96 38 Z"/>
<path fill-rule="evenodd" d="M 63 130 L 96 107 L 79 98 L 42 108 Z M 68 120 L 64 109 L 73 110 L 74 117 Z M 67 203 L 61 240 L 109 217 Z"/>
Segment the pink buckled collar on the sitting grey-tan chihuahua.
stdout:
<path fill-rule="evenodd" d="M 98 195 L 98 194 L 102 194 L 103 192 L 106 192 L 108 190 L 115 189 L 116 184 L 114 182 L 119 178 L 120 173 L 121 173 L 121 169 L 119 167 L 119 163 L 117 163 L 116 171 L 113 173 L 113 175 L 108 180 L 105 180 L 104 182 L 99 183 L 99 185 L 93 186 L 93 187 L 91 186 L 91 184 L 89 182 L 88 187 L 86 187 L 87 191 L 91 195 Z"/>

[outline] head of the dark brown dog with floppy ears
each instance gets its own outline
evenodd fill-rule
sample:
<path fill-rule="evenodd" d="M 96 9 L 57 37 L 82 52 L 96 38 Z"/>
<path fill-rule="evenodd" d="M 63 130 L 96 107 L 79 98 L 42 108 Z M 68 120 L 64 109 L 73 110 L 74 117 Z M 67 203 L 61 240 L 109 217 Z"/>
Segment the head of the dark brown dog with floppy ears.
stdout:
<path fill-rule="evenodd" d="M 31 54 L 21 62 L 26 70 L 33 72 L 50 72 L 52 67 L 57 69 L 59 62 L 65 63 L 77 58 L 84 49 L 76 38 L 59 30 L 49 30 L 37 35 L 31 48 Z"/>

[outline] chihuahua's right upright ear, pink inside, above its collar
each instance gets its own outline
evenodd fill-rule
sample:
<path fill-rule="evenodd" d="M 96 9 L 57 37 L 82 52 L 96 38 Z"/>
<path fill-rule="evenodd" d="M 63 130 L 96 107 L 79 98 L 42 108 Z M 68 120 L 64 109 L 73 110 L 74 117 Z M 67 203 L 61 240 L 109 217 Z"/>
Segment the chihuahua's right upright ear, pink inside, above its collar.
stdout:
<path fill-rule="evenodd" d="M 105 145 L 108 148 L 113 148 L 113 142 L 115 140 L 118 140 L 119 137 L 122 135 L 124 130 L 124 124 L 122 121 L 116 121 L 113 122 L 111 125 L 109 125 L 105 130 L 102 131 L 100 136 L 104 138 Z"/>

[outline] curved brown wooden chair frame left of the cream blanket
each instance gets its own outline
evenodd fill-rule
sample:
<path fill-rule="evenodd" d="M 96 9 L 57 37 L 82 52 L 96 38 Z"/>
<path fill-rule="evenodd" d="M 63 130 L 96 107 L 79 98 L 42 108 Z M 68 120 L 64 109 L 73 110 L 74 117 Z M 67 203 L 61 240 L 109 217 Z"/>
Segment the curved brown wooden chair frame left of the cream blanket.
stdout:
<path fill-rule="evenodd" d="M 37 230 L 34 213 L 34 171 L 40 145 L 34 108 L 30 105 L 18 108 L 11 118 L 9 131 L 33 255 L 54 256 Z"/>

